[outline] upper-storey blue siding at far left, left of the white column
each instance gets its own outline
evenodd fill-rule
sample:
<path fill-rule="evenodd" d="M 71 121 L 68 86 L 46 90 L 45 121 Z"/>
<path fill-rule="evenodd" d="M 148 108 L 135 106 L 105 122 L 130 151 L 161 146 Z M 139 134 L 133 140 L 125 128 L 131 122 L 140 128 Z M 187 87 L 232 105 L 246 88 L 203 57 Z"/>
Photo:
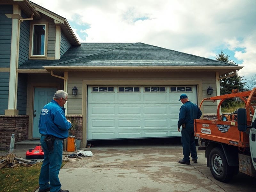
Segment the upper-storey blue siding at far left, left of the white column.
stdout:
<path fill-rule="evenodd" d="M 0 67 L 10 67 L 12 19 L 5 13 L 12 13 L 12 5 L 0 6 Z"/>

